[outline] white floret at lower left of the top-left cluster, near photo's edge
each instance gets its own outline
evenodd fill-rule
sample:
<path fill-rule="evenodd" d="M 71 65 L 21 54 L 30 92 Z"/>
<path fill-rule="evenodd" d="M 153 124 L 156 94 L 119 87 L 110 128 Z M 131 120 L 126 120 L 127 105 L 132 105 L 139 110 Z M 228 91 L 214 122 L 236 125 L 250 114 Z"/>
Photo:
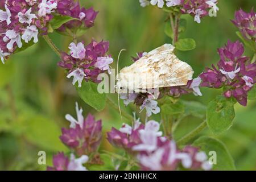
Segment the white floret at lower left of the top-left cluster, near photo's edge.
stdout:
<path fill-rule="evenodd" d="M 3 37 L 3 41 L 4 42 L 8 42 L 10 40 L 10 42 L 7 44 L 7 49 L 13 49 L 13 44 L 16 43 L 17 46 L 20 48 L 22 47 L 22 42 L 21 42 L 21 38 L 19 33 L 16 33 L 15 30 L 8 30 L 5 33 L 5 36 Z"/>

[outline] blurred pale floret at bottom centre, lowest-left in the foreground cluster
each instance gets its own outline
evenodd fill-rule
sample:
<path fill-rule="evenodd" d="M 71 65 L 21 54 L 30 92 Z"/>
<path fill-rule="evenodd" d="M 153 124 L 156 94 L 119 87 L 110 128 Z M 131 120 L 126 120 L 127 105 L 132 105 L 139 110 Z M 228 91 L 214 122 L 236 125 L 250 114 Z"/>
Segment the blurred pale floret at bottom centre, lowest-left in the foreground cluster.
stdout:
<path fill-rule="evenodd" d="M 138 160 L 144 167 L 150 168 L 154 171 L 162 169 L 162 158 L 164 154 L 163 148 L 158 148 L 153 154 L 150 155 L 139 155 Z"/>

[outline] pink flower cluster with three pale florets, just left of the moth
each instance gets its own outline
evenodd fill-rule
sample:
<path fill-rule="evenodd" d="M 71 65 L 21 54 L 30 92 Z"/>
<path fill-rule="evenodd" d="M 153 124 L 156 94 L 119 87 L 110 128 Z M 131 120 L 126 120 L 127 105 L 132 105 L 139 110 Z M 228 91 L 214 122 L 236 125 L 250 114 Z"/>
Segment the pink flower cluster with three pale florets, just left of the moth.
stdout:
<path fill-rule="evenodd" d="M 71 43 L 69 45 L 69 54 L 63 52 L 62 60 L 58 65 L 69 71 L 68 78 L 73 76 L 73 85 L 76 82 L 81 87 L 82 81 L 91 80 L 99 82 L 98 75 L 108 71 L 110 73 L 109 64 L 113 63 L 110 55 L 106 55 L 109 49 L 109 42 L 99 42 L 92 40 L 90 44 L 84 46 L 84 43 Z"/>

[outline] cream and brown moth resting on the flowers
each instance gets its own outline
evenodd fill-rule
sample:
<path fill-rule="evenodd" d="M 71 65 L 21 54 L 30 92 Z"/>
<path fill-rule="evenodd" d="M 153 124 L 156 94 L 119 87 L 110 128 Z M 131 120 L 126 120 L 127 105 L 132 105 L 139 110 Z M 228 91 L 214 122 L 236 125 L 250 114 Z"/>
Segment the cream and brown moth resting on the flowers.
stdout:
<path fill-rule="evenodd" d="M 121 69 L 117 75 L 117 88 L 140 90 L 187 85 L 192 80 L 193 69 L 174 54 L 172 44 L 164 44 Z M 127 93 L 127 92 L 126 92 Z"/>

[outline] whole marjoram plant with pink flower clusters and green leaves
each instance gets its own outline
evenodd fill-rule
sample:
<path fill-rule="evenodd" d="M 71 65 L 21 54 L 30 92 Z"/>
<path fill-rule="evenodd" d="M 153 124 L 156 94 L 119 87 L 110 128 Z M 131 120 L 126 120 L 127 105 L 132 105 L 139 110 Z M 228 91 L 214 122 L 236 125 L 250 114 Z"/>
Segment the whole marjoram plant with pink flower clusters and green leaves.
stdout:
<path fill-rule="evenodd" d="M 196 47 L 195 40 L 181 36 L 185 31 L 184 15 L 191 15 L 195 23 L 200 23 L 205 16 L 216 16 L 219 11 L 217 0 L 139 0 L 139 3 L 145 8 L 155 6 L 166 13 L 165 33 L 172 39 L 175 52 Z M 0 6 L 0 57 L 3 64 L 9 56 L 38 43 L 38 37 L 42 36 L 60 57 L 57 65 L 65 69 L 67 78 L 72 77 L 72 84 L 86 104 L 97 111 L 103 110 L 106 104 L 119 111 L 115 102 L 97 91 L 97 85 L 102 81 L 99 75 L 112 74 L 110 64 L 114 59 L 108 53 L 109 42 L 92 39 L 85 43 L 80 40 L 86 30 L 93 27 L 97 11 L 81 7 L 75 0 L 7 0 L 1 1 Z M 248 97 L 255 97 L 256 13 L 253 9 L 249 13 L 240 9 L 230 23 L 238 28 L 237 35 L 242 42 L 228 41 L 219 48 L 217 65 L 205 68 L 200 75 L 188 80 L 187 85 L 159 88 L 156 97 L 150 92 L 120 94 L 126 106 L 135 105 L 141 115 L 145 114 L 140 119 L 136 118 L 135 112 L 132 116 L 122 110 L 127 123 L 106 133 L 106 139 L 120 152 L 99 149 L 101 139 L 105 137 L 102 133 L 104 119 L 96 121 L 91 114 L 84 116 L 76 103 L 77 116 L 65 116 L 70 126 L 63 128 L 60 136 L 70 152 L 54 155 L 53 166 L 47 170 L 218 170 L 222 166 L 235 169 L 224 143 L 208 136 L 198 138 L 207 127 L 214 135 L 230 129 L 235 116 L 234 104 L 238 102 L 246 106 Z M 53 31 L 72 38 L 69 52 L 61 51 L 53 44 L 48 37 Z M 246 49 L 254 54 L 245 56 Z M 138 52 L 133 61 L 144 56 L 147 52 Z M 203 97 L 201 87 L 223 91 L 207 107 L 181 99 L 184 94 L 191 93 Z M 154 114 L 160 116 L 159 121 L 149 119 Z M 189 114 L 199 115 L 201 124 L 175 140 L 173 133 L 177 125 Z"/>

